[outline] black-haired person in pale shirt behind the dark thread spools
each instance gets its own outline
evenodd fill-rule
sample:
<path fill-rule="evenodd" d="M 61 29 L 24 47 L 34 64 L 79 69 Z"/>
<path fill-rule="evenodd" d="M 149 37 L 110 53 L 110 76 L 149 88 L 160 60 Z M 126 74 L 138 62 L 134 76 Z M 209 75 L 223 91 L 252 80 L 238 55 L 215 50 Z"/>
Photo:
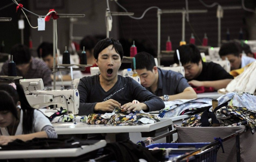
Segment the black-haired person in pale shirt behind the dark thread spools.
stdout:
<path fill-rule="evenodd" d="M 53 68 L 53 43 L 43 42 L 37 48 L 37 54 L 39 58 L 42 58 L 43 61 L 47 64 L 47 66 L 52 69 Z M 62 56 L 57 57 L 56 53 L 56 67 L 57 64 L 62 64 Z M 74 64 L 74 61 L 70 59 L 70 64 Z M 78 66 L 72 66 L 73 68 L 78 68 Z M 71 80 L 70 71 L 61 71 L 62 80 Z M 73 79 L 82 78 L 81 71 L 73 70 Z M 53 80 L 53 74 L 51 74 L 51 79 Z M 61 80 L 60 71 L 56 72 L 56 80 Z"/>

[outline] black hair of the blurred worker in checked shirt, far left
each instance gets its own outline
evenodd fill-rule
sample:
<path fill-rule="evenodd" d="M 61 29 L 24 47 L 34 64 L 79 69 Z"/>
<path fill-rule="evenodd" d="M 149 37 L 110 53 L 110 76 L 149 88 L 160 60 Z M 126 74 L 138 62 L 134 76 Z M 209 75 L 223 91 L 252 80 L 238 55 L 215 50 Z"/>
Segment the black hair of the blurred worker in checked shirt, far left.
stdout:
<path fill-rule="evenodd" d="M 11 55 L 13 55 L 13 61 L 16 65 L 23 63 L 29 63 L 31 60 L 31 53 L 29 48 L 23 44 L 16 44 L 11 48 Z"/>

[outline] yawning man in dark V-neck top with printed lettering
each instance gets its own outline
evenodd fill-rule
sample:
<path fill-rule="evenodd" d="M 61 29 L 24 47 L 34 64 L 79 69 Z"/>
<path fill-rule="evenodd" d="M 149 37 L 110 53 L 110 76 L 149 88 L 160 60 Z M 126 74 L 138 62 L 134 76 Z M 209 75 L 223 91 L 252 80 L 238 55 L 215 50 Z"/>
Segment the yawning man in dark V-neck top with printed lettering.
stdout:
<path fill-rule="evenodd" d="M 131 111 L 156 111 L 165 107 L 163 101 L 147 91 L 131 77 L 118 75 L 123 58 L 119 41 L 106 38 L 94 47 L 94 58 L 101 74 L 80 79 L 79 115 L 112 112 L 114 108 Z M 140 103 L 131 103 L 138 100 Z M 88 139 L 104 139 L 101 134 L 88 134 Z M 129 139 L 128 133 L 116 135 L 116 140 Z"/>

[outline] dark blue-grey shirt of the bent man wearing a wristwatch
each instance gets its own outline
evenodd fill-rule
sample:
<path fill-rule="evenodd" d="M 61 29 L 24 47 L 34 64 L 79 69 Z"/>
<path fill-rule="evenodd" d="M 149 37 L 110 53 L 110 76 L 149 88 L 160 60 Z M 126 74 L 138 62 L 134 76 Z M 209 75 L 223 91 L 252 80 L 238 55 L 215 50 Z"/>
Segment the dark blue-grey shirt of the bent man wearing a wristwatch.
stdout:
<path fill-rule="evenodd" d="M 155 95 L 174 95 L 182 93 L 187 87 L 190 87 L 190 85 L 181 73 L 158 68 L 158 85 L 157 90 L 154 93 Z M 147 87 L 146 89 L 152 92 L 150 87 Z"/>

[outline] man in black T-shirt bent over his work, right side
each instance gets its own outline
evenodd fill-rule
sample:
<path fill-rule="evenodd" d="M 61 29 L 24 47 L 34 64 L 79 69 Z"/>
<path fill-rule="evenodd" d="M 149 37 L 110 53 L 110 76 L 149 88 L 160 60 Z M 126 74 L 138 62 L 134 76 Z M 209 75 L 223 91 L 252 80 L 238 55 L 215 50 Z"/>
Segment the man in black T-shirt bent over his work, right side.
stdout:
<path fill-rule="evenodd" d="M 185 78 L 191 86 L 214 87 L 215 90 L 225 88 L 233 79 L 219 64 L 203 62 L 197 46 L 186 44 L 179 46 L 179 56 L 185 69 Z M 175 50 L 174 62 L 179 64 Z"/>

